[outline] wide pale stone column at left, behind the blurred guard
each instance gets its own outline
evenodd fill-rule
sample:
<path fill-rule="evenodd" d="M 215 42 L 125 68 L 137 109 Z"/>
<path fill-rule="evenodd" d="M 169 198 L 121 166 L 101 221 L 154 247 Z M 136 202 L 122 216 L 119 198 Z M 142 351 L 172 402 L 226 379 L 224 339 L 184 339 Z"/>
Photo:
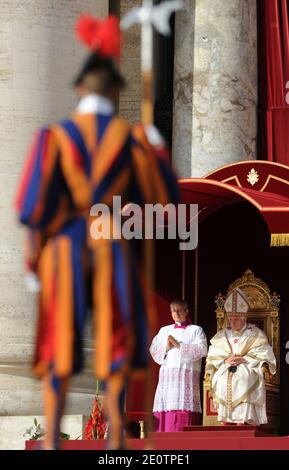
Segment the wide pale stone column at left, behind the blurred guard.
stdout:
<path fill-rule="evenodd" d="M 74 39 L 75 20 L 82 12 L 106 16 L 108 1 L 0 0 L 0 11 L 0 414 L 31 415 L 42 413 L 30 375 L 35 305 L 23 285 L 12 200 L 33 130 L 75 106 L 70 84 L 86 54 Z M 68 412 L 87 414 L 94 389 L 89 372 L 78 379 Z"/>

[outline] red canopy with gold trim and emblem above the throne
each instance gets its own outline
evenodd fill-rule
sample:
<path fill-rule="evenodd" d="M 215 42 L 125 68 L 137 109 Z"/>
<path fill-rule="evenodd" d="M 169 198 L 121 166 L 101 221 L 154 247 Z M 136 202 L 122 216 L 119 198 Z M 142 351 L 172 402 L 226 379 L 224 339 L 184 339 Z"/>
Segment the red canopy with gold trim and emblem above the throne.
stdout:
<path fill-rule="evenodd" d="M 289 246 L 289 167 L 250 160 L 226 165 L 205 178 L 179 180 L 182 202 L 199 205 L 199 219 L 247 201 L 267 223 L 271 246 Z"/>

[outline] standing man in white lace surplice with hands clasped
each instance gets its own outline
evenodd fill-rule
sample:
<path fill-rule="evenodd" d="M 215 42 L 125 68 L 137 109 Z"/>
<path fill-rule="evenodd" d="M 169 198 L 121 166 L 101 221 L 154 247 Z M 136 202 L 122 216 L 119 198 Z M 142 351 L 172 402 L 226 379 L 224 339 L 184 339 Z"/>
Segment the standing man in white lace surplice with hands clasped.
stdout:
<path fill-rule="evenodd" d="M 174 300 L 170 307 L 174 323 L 161 328 L 150 347 L 161 366 L 153 406 L 159 432 L 182 431 L 200 416 L 200 372 L 207 354 L 205 333 L 189 321 L 187 302 Z"/>

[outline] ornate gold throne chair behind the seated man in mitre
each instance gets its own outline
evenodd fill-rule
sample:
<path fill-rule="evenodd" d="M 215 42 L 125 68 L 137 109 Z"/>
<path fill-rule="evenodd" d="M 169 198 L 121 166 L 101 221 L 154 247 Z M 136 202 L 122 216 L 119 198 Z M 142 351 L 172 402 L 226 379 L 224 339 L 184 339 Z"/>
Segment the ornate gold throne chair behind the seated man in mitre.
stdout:
<path fill-rule="evenodd" d="M 227 295 L 236 287 L 245 292 L 249 299 L 250 309 L 248 321 L 261 328 L 267 335 L 277 360 L 277 371 L 271 375 L 268 367 L 263 368 L 266 384 L 266 408 L 268 416 L 268 430 L 273 433 L 279 431 L 279 403 L 280 403 L 280 296 L 275 292 L 271 294 L 270 288 L 261 279 L 254 276 L 249 269 L 243 277 L 233 282 Z M 221 293 L 215 298 L 217 331 L 227 326 L 227 316 L 224 309 L 226 295 Z M 217 411 L 211 396 L 211 374 L 205 370 L 203 382 L 203 425 L 218 426 Z"/>

